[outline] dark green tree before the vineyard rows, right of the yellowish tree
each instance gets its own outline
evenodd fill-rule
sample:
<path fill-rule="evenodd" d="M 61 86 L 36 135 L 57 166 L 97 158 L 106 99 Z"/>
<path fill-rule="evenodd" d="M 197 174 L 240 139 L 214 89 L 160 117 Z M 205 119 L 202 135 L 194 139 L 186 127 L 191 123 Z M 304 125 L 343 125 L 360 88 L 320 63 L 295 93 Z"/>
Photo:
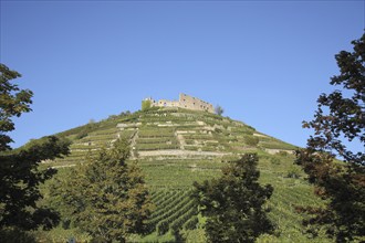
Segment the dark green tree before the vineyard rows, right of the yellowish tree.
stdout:
<path fill-rule="evenodd" d="M 209 242 L 254 242 L 273 230 L 262 208 L 273 188 L 259 184 L 257 165 L 258 156 L 247 154 L 223 167 L 220 179 L 194 183 Z"/>

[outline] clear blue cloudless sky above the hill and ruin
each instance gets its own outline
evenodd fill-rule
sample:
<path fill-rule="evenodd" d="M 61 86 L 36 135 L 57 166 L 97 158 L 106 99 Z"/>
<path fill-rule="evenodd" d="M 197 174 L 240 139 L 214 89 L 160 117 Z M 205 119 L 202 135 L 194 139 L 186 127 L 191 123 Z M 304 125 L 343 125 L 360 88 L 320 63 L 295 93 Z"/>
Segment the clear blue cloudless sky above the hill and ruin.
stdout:
<path fill-rule="evenodd" d="M 3 1 L 0 61 L 34 92 L 13 147 L 186 93 L 304 146 L 364 1 Z M 362 149 L 362 148 L 361 148 Z"/>

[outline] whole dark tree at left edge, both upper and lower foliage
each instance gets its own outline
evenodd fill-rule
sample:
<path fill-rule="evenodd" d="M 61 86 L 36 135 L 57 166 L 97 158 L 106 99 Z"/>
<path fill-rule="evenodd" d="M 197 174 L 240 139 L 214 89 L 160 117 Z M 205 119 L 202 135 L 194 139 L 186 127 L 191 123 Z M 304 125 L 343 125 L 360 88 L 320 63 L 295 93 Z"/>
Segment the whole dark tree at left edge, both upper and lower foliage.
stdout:
<path fill-rule="evenodd" d="M 31 141 L 21 149 L 11 150 L 7 133 L 14 129 L 12 117 L 30 112 L 32 92 L 20 89 L 10 81 L 20 77 L 0 64 L 0 234 L 31 230 L 40 225 L 50 229 L 58 215 L 36 201 L 42 198 L 39 184 L 54 175 L 54 170 L 38 169 L 42 160 L 69 152 L 69 142 L 56 137 Z M 12 231 L 11 228 L 18 228 Z M 0 236 L 1 237 L 1 236 Z"/>

